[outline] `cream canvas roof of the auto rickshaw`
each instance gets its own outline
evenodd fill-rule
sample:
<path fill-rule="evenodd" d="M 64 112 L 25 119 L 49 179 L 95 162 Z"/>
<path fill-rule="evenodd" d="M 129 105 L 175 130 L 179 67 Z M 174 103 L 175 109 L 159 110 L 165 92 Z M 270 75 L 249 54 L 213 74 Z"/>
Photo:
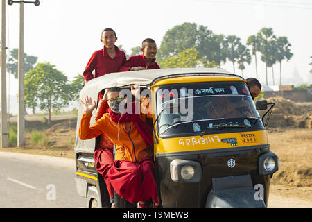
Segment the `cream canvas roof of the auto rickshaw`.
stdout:
<path fill-rule="evenodd" d="M 83 94 L 90 92 L 100 92 L 102 89 L 110 87 L 126 87 L 130 85 L 153 85 L 157 80 L 173 78 L 176 76 L 236 76 L 225 69 L 219 68 L 175 68 L 175 69 L 148 69 L 141 71 L 123 71 L 106 74 L 98 78 L 89 80 L 83 87 Z M 243 78 L 241 78 L 243 80 Z"/>

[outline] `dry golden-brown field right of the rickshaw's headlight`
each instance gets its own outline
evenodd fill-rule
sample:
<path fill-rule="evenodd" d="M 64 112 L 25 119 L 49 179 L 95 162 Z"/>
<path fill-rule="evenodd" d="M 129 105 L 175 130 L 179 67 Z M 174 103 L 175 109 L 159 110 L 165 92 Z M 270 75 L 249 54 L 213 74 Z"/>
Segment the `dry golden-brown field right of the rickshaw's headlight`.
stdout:
<path fill-rule="evenodd" d="M 275 129 L 268 132 L 270 150 L 279 156 L 280 169 L 272 182 L 312 187 L 312 130 Z"/>

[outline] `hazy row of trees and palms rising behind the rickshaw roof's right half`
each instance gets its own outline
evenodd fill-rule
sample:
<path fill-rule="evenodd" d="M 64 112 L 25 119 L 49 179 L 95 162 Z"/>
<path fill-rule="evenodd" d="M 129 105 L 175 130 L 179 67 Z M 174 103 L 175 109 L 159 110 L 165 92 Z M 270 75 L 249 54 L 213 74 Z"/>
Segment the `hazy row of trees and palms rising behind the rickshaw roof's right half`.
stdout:
<path fill-rule="evenodd" d="M 190 57 L 189 52 L 192 52 Z M 243 76 L 245 65 L 250 65 L 254 56 L 258 78 L 257 53 L 261 53 L 261 61 L 266 64 L 266 85 L 268 85 L 268 67 L 272 68 L 275 85 L 273 65 L 279 62 L 279 85 L 281 85 L 281 62 L 290 60 L 293 53 L 287 37 L 277 37 L 272 28 L 261 28 L 258 33 L 250 35 L 243 44 L 241 38 L 236 35 L 215 34 L 207 26 L 186 22 L 166 32 L 159 47 L 157 60 L 160 61 L 161 67 L 191 67 L 194 64 L 220 67 L 225 62 L 232 62 L 234 74 L 235 65 L 238 65 Z"/>

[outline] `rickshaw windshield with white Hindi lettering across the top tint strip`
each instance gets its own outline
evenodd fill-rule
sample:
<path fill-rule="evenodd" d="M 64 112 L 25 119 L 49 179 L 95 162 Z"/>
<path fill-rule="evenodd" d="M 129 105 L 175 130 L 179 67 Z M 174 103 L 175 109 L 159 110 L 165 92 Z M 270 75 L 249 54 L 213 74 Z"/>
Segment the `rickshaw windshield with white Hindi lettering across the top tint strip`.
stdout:
<path fill-rule="evenodd" d="M 216 126 L 227 126 L 227 130 L 263 127 L 245 83 L 164 85 L 156 96 L 161 136 L 202 132 Z"/>

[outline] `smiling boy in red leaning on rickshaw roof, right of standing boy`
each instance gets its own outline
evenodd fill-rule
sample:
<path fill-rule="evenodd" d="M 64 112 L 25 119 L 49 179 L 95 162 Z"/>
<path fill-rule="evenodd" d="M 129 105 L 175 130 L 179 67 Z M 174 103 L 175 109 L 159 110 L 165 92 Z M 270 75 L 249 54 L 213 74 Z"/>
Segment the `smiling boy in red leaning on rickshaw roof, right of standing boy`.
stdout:
<path fill-rule="evenodd" d="M 143 40 L 142 55 L 131 56 L 119 71 L 139 71 L 144 69 L 160 69 L 156 62 L 156 42 L 150 38 Z"/>

